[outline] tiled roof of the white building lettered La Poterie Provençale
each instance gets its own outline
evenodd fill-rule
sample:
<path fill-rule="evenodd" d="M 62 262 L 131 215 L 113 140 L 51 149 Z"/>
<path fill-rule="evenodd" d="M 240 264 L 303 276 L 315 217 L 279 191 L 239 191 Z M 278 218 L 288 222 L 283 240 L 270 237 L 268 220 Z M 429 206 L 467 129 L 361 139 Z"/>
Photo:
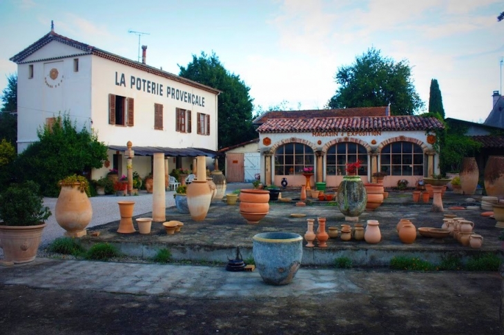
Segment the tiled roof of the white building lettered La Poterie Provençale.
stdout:
<path fill-rule="evenodd" d="M 77 48 L 77 49 L 81 50 L 81 52 L 76 52 L 76 54 L 67 55 L 64 57 L 53 57 L 50 59 L 39 59 L 38 61 L 49 61 L 52 59 L 76 57 L 76 56 L 83 55 L 83 54 L 94 54 L 95 56 L 109 59 L 110 61 L 115 61 L 117 63 L 121 63 L 123 65 L 127 65 L 132 68 L 136 68 L 138 70 L 142 70 L 142 71 L 145 71 L 145 72 L 148 72 L 151 74 L 155 74 L 157 76 L 164 77 L 166 79 L 178 81 L 180 83 L 190 85 L 194 88 L 200 88 L 201 90 L 205 90 L 205 91 L 211 92 L 213 94 L 219 94 L 221 92 L 220 90 L 217 90 L 215 88 L 211 88 L 210 86 L 207 86 L 207 85 L 203 85 L 202 83 L 197 83 L 196 81 L 192 81 L 192 80 L 189 80 L 189 79 L 186 79 L 183 77 L 179 77 L 175 74 L 172 74 L 170 72 L 166 72 L 163 70 L 159 70 L 157 68 L 153 68 L 152 66 L 146 65 L 144 63 L 132 61 L 130 59 L 118 56 L 117 54 L 113 54 L 113 53 L 107 52 L 105 50 L 101 50 L 101 49 L 96 48 L 92 45 L 88 45 L 86 43 L 81 43 L 79 41 L 69 39 L 68 37 L 64 37 L 64 36 L 57 34 L 53 31 L 48 32 L 41 39 L 39 39 L 38 41 L 36 41 L 32 45 L 28 46 L 28 48 L 15 54 L 14 56 L 10 57 L 10 60 L 13 61 L 14 63 L 17 63 L 17 64 L 28 63 L 27 61 L 25 61 L 26 57 L 30 56 L 30 54 L 33 54 L 37 50 L 41 49 L 44 45 L 47 45 L 51 41 L 58 41 L 59 43 L 64 43 L 66 45 L 70 45 L 73 48 Z"/>

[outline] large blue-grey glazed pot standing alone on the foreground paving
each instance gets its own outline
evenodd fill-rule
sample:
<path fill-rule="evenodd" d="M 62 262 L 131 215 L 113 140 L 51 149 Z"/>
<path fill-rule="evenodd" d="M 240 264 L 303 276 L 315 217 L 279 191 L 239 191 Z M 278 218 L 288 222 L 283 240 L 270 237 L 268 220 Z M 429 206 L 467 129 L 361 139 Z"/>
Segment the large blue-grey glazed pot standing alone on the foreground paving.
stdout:
<path fill-rule="evenodd" d="M 266 232 L 252 239 L 255 267 L 264 283 L 291 283 L 301 265 L 302 237 L 289 232 Z"/>

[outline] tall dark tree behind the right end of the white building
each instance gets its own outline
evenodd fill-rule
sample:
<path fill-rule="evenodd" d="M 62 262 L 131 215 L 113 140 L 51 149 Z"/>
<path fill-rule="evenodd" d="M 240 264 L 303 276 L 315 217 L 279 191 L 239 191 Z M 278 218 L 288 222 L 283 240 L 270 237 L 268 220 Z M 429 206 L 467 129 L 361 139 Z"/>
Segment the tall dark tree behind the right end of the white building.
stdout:
<path fill-rule="evenodd" d="M 191 63 L 186 67 L 178 66 L 180 77 L 222 91 L 217 103 L 218 148 L 226 148 L 258 137 L 252 125 L 253 99 L 249 96 L 250 88 L 238 74 L 229 73 L 215 53 L 208 56 L 202 52 L 200 57 L 193 54 Z"/>

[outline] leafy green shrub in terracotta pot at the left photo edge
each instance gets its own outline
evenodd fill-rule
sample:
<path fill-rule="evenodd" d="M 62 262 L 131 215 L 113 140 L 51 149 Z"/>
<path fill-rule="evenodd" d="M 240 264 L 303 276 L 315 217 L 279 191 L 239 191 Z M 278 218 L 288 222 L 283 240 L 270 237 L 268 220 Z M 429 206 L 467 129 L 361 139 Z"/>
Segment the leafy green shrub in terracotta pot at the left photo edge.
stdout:
<path fill-rule="evenodd" d="M 28 263 L 37 256 L 42 230 L 51 215 L 39 185 L 12 184 L 0 194 L 0 247 L 6 261 Z"/>

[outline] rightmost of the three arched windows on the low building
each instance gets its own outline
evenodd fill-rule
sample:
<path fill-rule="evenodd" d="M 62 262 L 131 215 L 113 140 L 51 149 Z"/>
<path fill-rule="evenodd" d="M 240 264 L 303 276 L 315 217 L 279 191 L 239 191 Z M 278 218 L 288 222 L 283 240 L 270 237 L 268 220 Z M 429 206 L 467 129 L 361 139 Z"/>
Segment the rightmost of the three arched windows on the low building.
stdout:
<path fill-rule="evenodd" d="M 423 150 L 411 142 L 394 142 L 383 147 L 380 169 L 392 176 L 423 176 Z"/>

